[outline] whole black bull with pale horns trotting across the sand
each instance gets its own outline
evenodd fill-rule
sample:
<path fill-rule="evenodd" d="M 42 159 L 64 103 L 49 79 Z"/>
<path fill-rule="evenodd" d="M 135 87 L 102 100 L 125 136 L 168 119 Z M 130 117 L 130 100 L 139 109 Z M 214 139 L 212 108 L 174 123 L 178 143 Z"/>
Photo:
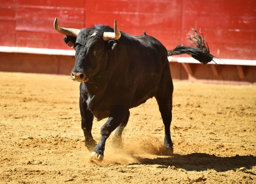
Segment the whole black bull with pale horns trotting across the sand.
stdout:
<path fill-rule="evenodd" d="M 189 38 L 196 47 L 177 46 L 166 50 L 156 38 L 146 35 L 131 36 L 109 26 L 93 26 L 88 29 L 55 29 L 65 43 L 76 50 L 76 63 L 71 78 L 80 81 L 81 128 L 85 146 L 93 151 L 91 158 L 102 161 L 105 143 L 111 132 L 113 144 L 122 147 L 122 132 L 128 122 L 129 109 L 155 97 L 165 127 L 164 146 L 172 153 L 170 135 L 172 121 L 173 83 L 167 56 L 189 54 L 203 64 L 212 61 L 208 45 L 195 31 Z M 206 43 L 207 44 L 207 43 Z M 108 118 L 101 128 L 98 144 L 91 129 L 96 120 Z"/>

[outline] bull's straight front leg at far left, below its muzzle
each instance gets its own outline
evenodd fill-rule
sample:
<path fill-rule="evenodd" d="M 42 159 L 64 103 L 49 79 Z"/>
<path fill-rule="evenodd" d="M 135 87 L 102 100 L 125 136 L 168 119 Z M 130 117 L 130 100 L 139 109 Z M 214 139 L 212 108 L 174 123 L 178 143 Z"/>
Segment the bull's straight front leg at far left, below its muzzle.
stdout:
<path fill-rule="evenodd" d="M 89 151 L 93 151 L 96 147 L 96 141 L 94 141 L 92 136 L 92 126 L 93 126 L 93 113 L 87 109 L 87 103 L 85 99 L 80 94 L 79 107 L 81 113 L 81 128 L 84 131 L 84 145 Z"/>

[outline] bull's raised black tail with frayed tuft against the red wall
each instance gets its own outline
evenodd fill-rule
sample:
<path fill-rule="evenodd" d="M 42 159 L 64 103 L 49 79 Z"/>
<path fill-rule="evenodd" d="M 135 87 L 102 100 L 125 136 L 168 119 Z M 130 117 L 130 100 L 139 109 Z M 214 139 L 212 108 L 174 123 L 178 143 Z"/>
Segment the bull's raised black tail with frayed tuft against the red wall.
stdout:
<path fill-rule="evenodd" d="M 172 55 L 180 55 L 180 54 L 188 54 L 193 58 L 198 60 L 200 63 L 206 65 L 211 62 L 213 59 L 213 55 L 210 54 L 209 46 L 207 42 L 204 40 L 204 35 L 201 33 L 203 39 L 195 29 L 192 29 L 195 32 L 195 35 L 190 35 L 191 37 L 187 37 L 191 43 L 193 43 L 196 47 L 193 46 L 183 46 L 178 45 L 175 49 L 168 50 L 168 56 Z M 204 43 L 205 42 L 205 43 Z"/>

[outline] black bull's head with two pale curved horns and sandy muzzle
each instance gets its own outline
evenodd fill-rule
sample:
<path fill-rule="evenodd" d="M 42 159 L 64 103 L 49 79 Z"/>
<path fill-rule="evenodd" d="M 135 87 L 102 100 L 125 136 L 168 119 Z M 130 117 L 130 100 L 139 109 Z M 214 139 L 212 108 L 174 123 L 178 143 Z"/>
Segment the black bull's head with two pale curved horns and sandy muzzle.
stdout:
<path fill-rule="evenodd" d="M 67 37 L 63 40 L 76 50 L 76 63 L 71 72 L 71 78 L 81 82 L 86 82 L 101 72 L 102 66 L 107 64 L 108 52 L 115 48 L 115 40 L 121 37 L 116 20 L 114 32 L 103 32 L 94 28 L 62 28 L 58 26 L 57 18 L 54 21 L 54 28 L 57 32 L 66 35 Z"/>

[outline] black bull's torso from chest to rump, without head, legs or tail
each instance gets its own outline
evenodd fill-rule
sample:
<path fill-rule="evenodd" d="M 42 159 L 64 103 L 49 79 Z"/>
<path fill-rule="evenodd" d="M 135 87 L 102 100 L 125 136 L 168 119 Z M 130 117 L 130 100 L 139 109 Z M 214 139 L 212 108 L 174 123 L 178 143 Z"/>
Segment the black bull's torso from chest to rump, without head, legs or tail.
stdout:
<path fill-rule="evenodd" d="M 130 109 L 164 90 L 157 90 L 162 74 L 169 79 L 163 87 L 172 89 L 167 50 L 162 43 L 148 35 L 122 33 L 117 44 L 111 67 L 94 76 L 96 80 L 80 85 L 80 93 L 97 120 L 108 118 L 114 106 Z"/>

